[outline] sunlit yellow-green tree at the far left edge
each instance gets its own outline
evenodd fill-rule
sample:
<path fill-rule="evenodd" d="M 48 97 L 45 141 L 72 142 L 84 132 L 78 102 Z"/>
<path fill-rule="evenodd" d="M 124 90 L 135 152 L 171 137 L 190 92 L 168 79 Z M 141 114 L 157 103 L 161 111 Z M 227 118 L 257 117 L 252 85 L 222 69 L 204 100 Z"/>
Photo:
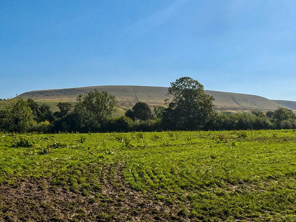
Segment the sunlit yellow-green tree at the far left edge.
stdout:
<path fill-rule="evenodd" d="M 0 128 L 5 131 L 27 132 L 36 124 L 29 104 L 17 97 L 1 107 Z"/>

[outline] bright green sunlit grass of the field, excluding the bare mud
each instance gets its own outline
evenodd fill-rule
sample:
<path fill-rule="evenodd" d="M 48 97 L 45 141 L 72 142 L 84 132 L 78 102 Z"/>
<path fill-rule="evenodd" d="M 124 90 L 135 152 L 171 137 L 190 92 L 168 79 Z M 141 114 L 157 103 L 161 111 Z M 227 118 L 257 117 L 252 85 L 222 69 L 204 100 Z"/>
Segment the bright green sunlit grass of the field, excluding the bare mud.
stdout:
<path fill-rule="evenodd" d="M 295 142 L 292 130 L 0 134 L 0 183 L 48 178 L 99 198 L 109 180 L 179 219 L 295 221 Z"/>

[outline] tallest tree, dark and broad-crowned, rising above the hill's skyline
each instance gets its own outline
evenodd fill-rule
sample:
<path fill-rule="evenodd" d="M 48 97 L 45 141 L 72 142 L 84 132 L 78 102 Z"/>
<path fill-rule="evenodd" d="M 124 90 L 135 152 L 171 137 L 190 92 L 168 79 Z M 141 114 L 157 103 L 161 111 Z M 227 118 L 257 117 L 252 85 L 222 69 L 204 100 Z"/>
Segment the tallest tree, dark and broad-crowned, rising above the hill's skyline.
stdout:
<path fill-rule="evenodd" d="M 163 124 L 167 129 L 202 129 L 213 118 L 213 96 L 204 93 L 198 81 L 182 77 L 172 82 L 166 99 L 168 108 L 163 113 Z"/>

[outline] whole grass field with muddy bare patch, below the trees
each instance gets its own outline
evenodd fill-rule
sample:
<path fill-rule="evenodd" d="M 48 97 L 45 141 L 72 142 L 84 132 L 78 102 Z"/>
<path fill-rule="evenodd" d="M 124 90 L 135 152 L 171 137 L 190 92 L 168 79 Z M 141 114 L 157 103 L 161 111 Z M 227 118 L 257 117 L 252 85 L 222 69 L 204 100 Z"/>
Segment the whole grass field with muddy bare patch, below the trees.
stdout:
<path fill-rule="evenodd" d="M 296 132 L 0 134 L 0 221 L 296 221 Z"/>

